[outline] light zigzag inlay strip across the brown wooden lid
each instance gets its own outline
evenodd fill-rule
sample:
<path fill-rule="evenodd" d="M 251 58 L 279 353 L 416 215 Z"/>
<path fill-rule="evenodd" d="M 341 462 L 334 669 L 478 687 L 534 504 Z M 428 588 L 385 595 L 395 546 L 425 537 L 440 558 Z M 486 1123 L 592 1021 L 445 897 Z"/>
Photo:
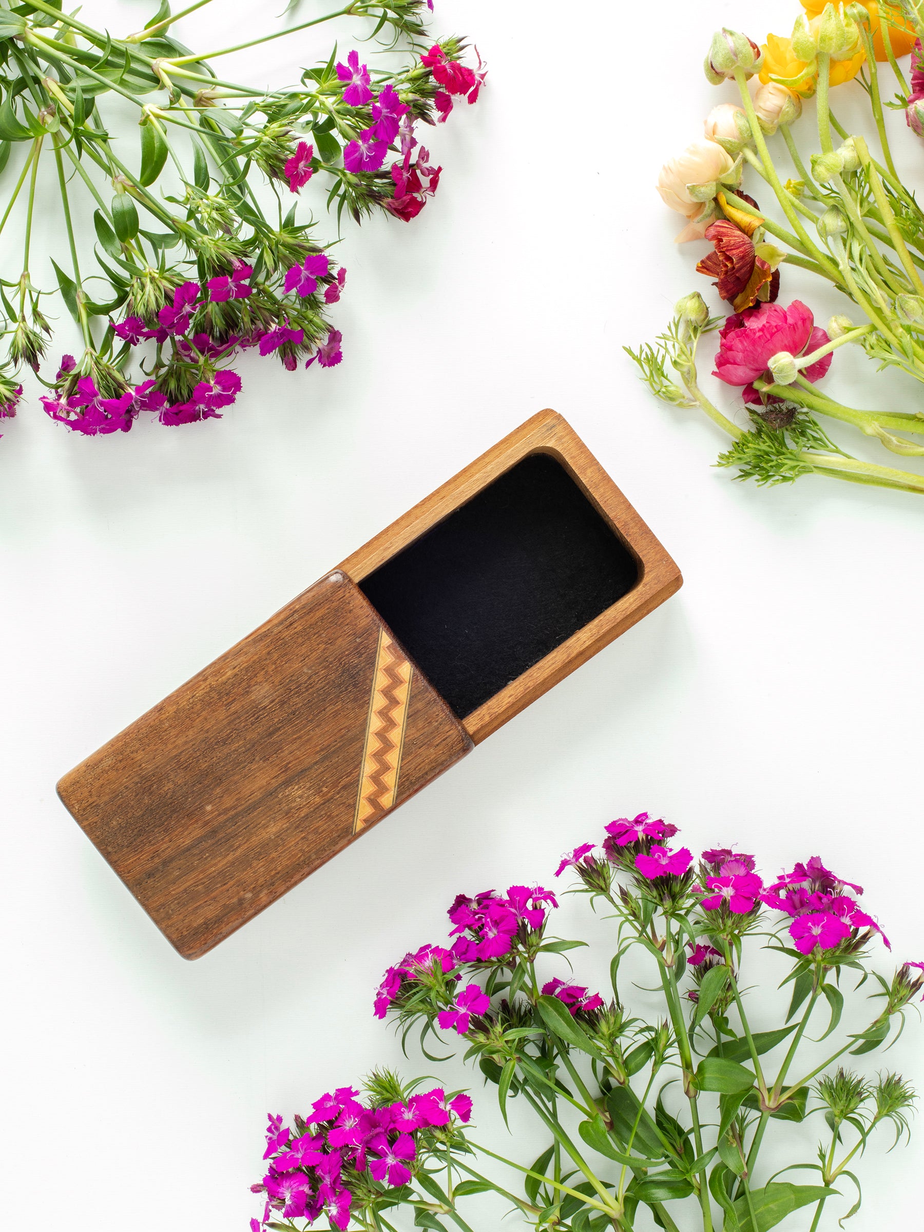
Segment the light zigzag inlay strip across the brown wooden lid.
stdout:
<path fill-rule="evenodd" d="M 381 630 L 362 748 L 354 834 L 394 806 L 413 671 L 388 633 Z"/>

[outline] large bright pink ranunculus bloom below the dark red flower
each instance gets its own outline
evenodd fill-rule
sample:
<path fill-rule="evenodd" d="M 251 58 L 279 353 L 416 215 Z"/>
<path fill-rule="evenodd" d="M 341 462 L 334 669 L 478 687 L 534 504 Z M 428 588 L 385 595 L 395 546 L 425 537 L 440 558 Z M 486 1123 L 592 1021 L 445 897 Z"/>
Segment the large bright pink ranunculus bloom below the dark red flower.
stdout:
<path fill-rule="evenodd" d="M 733 386 L 750 386 L 765 376 L 768 363 L 780 351 L 798 357 L 829 341 L 827 333 L 816 326 L 811 308 L 800 299 L 793 299 L 788 308 L 766 303 L 733 313 L 722 326 L 719 338 L 712 375 Z M 830 361 L 832 356 L 824 355 L 803 368 L 802 376 L 807 381 L 818 381 L 830 367 Z"/>

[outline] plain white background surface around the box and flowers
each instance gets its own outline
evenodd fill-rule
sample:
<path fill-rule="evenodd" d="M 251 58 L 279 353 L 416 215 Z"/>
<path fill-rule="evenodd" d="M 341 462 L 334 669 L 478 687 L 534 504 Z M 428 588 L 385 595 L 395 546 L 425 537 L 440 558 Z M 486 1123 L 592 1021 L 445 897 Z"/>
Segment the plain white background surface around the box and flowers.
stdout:
<path fill-rule="evenodd" d="M 819 478 L 733 483 L 711 466 L 718 431 L 655 403 L 622 352 L 667 324 L 679 294 L 713 296 L 692 269 L 706 246 L 673 246 L 681 223 L 653 184 L 733 97 L 701 60 L 713 27 L 744 11 L 763 39 L 800 10 L 437 0 L 434 32 L 473 36 L 489 87 L 432 134 L 445 171 L 416 222 L 345 229 L 340 367 L 288 375 L 248 357 L 223 420 L 100 440 L 51 423 L 28 387 L 0 441 L 5 1226 L 243 1230 L 267 1110 L 304 1109 L 375 1064 L 425 1068 L 372 1018 L 384 967 L 445 936 L 458 891 L 548 883 L 559 853 L 616 816 L 663 814 L 695 849 L 738 840 L 769 875 L 821 854 L 865 885 L 894 956 L 924 957 L 924 506 Z M 124 33 L 147 16 L 121 4 L 100 22 Z M 222 46 L 270 20 L 216 0 L 180 37 Z M 223 63 L 241 80 L 293 80 L 331 41 L 323 28 Z M 848 118 L 849 90 L 837 96 Z M 922 186 L 924 149 L 894 127 Z M 57 250 L 57 216 L 39 225 Z M 16 277 L 18 255 L 4 261 Z M 822 322 L 840 307 L 797 271 L 782 277 L 784 303 L 800 294 Z M 835 356 L 828 388 L 860 407 L 920 404 L 859 354 Z M 542 407 L 584 437 L 684 589 L 184 962 L 57 801 L 57 779 Z M 556 926 L 575 935 L 584 915 L 567 899 Z M 604 958 L 575 960 L 583 981 L 605 978 Z M 920 1039 L 913 1015 L 886 1061 L 919 1082 Z M 472 1084 L 485 1138 L 522 1158 L 541 1146 L 519 1114 L 526 1136 L 506 1138 L 476 1074 L 440 1077 Z M 819 1129 L 797 1131 L 801 1158 Z M 867 1152 L 856 1232 L 912 1226 L 923 1142 Z"/>

